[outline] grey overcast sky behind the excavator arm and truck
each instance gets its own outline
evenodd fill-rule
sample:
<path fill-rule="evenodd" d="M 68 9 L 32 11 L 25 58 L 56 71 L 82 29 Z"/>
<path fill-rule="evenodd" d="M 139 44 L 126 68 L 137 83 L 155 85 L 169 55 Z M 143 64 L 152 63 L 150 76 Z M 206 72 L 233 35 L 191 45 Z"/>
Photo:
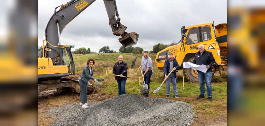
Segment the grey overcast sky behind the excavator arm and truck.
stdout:
<path fill-rule="evenodd" d="M 38 46 L 45 39 L 45 28 L 54 8 L 70 0 L 38 1 Z M 151 51 L 158 43 L 169 44 L 181 38 L 180 28 L 213 22 L 227 23 L 227 0 L 116 0 L 121 24 L 126 32 L 136 32 L 133 47 Z M 99 52 L 103 46 L 119 51 L 122 46 L 111 27 L 103 0 L 96 0 L 63 30 L 62 45 L 75 45 Z"/>

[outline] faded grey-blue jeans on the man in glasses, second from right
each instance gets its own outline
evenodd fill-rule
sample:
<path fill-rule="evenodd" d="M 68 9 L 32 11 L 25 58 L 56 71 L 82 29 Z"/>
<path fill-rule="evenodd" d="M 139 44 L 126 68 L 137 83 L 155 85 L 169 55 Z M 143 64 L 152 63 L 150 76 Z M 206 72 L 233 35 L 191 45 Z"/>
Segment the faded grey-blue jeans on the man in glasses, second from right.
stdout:
<path fill-rule="evenodd" d="M 174 74 L 170 74 L 169 77 L 166 79 L 166 95 L 167 96 L 170 95 L 170 80 L 172 82 L 174 95 L 177 96 L 178 95 L 177 81 Z"/>

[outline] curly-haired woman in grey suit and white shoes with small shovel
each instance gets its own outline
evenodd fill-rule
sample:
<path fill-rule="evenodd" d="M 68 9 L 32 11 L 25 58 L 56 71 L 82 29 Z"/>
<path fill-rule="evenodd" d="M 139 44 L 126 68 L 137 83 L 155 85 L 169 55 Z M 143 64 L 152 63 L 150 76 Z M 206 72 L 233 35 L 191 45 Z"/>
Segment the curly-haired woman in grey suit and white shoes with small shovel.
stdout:
<path fill-rule="evenodd" d="M 95 64 L 95 61 L 93 59 L 89 59 L 86 62 L 86 66 L 83 69 L 82 75 L 79 78 L 79 85 L 80 85 L 80 105 L 82 105 L 82 108 L 87 108 L 88 104 L 86 103 L 86 96 L 87 96 L 87 83 L 90 79 L 94 80 L 96 82 L 96 79 L 93 76 L 93 70 L 92 66 Z"/>

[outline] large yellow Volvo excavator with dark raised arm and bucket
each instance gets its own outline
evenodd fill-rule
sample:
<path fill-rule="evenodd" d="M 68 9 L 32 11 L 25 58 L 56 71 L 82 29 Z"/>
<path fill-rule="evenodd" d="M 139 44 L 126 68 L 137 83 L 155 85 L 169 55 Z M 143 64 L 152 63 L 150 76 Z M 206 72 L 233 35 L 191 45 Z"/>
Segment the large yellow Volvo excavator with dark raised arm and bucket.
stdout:
<path fill-rule="evenodd" d="M 71 0 L 65 4 L 55 7 L 46 29 L 45 40 L 38 56 L 38 90 L 47 88 L 70 88 L 72 92 L 80 93 L 77 80 L 63 78 L 75 75 L 75 63 L 71 53 L 71 45 L 62 45 L 60 35 L 65 26 L 76 16 L 83 12 L 96 0 Z M 119 42 L 123 47 L 137 44 L 139 35 L 135 32 L 127 33 L 126 26 L 121 24 L 118 14 L 116 0 L 103 0 L 109 26 L 113 35 L 120 36 Z M 60 7 L 59 10 L 57 8 Z M 117 16 L 117 19 L 116 19 Z M 92 93 L 92 82 L 89 82 L 88 90 Z"/>

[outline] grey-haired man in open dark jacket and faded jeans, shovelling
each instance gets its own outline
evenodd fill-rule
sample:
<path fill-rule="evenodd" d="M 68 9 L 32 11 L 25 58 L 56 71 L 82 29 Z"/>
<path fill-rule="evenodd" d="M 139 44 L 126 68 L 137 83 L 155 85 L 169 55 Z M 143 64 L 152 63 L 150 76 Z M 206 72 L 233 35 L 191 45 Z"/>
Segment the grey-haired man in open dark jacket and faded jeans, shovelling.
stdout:
<path fill-rule="evenodd" d="M 164 78 L 166 79 L 166 98 L 169 98 L 170 95 L 170 80 L 172 82 L 173 86 L 173 92 L 175 95 L 175 98 L 178 97 L 178 91 L 177 91 L 177 82 L 176 77 L 177 73 L 176 70 L 179 69 L 179 64 L 175 58 L 173 58 L 173 54 L 169 54 L 168 59 L 165 60 L 163 71 L 164 71 Z M 171 72 L 171 70 L 173 70 Z M 169 75 L 169 73 L 171 74 Z M 167 77 L 169 75 L 169 77 Z"/>

